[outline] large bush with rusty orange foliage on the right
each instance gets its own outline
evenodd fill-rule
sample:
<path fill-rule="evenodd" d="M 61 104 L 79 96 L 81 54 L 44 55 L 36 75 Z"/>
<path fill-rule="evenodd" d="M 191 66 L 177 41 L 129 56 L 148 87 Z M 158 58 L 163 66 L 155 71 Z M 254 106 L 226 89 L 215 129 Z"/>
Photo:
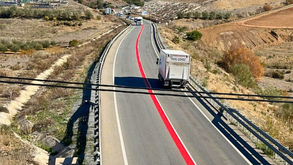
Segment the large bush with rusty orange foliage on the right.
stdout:
<path fill-rule="evenodd" d="M 248 65 L 254 78 L 258 78 L 265 73 L 258 56 L 242 44 L 231 46 L 229 50 L 225 51 L 222 57 L 222 64 L 228 72 L 235 64 Z"/>

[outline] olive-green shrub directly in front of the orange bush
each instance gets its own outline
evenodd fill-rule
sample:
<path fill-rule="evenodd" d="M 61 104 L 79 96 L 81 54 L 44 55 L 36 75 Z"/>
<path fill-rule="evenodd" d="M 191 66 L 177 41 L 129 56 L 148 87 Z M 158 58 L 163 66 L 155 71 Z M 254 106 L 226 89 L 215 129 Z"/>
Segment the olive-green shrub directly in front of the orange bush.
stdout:
<path fill-rule="evenodd" d="M 244 64 L 235 64 L 230 68 L 230 73 L 234 75 L 237 84 L 243 87 L 255 87 L 256 83 L 249 67 Z"/>

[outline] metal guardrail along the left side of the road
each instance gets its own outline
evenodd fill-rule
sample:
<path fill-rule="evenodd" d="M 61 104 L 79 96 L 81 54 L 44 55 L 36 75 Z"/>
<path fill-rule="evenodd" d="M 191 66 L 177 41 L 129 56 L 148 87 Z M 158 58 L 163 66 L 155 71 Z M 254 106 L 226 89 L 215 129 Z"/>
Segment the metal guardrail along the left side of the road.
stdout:
<path fill-rule="evenodd" d="M 105 47 L 102 55 L 100 56 L 100 60 L 98 62 L 97 66 L 97 79 L 96 84 L 100 84 L 101 79 L 101 70 L 103 68 L 103 64 L 105 61 L 105 57 L 107 56 L 111 46 L 113 43 L 117 40 L 118 37 L 120 37 L 128 28 L 130 28 L 131 24 L 127 26 L 127 28 L 123 29 L 119 34 L 117 34 Z M 96 88 L 100 88 L 96 86 Z M 96 91 L 96 100 L 94 105 L 94 114 L 95 114 L 95 124 L 94 124 L 94 165 L 101 165 L 101 137 L 100 137 L 100 91 Z"/>

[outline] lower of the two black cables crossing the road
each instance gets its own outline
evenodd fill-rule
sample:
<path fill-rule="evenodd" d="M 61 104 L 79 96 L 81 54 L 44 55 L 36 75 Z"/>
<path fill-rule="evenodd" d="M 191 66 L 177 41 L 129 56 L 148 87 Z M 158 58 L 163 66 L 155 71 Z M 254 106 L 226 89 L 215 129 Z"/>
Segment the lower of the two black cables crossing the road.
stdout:
<path fill-rule="evenodd" d="M 107 91 L 107 92 L 120 92 L 120 93 L 135 93 L 135 94 L 144 94 L 144 95 L 160 95 L 160 96 L 192 97 L 192 98 L 209 98 L 209 99 L 219 99 L 219 100 L 240 100 L 240 101 L 293 103 L 293 101 L 259 100 L 259 99 L 239 99 L 239 98 L 229 98 L 229 97 L 209 97 L 209 96 L 198 96 L 198 95 L 194 96 L 194 95 L 178 95 L 178 94 L 167 94 L 167 93 L 138 92 L 138 91 L 125 91 L 125 90 L 111 90 L 111 89 L 95 89 L 95 88 L 72 87 L 72 86 L 62 86 L 62 85 L 33 84 L 33 83 L 24 83 L 24 82 L 17 82 L 17 81 L 1 81 L 0 80 L 0 83 L 23 84 L 23 85 L 45 86 L 45 87 L 59 87 L 59 88 L 94 90 L 94 91 Z"/>

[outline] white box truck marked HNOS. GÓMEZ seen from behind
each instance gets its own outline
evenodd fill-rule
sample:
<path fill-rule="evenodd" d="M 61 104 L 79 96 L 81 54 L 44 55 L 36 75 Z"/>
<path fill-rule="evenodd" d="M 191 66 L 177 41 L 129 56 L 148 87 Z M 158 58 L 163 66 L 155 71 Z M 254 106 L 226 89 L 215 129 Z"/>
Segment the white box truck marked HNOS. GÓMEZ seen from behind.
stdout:
<path fill-rule="evenodd" d="M 181 50 L 162 49 L 156 62 L 162 86 L 185 88 L 189 80 L 190 61 L 190 55 Z"/>

